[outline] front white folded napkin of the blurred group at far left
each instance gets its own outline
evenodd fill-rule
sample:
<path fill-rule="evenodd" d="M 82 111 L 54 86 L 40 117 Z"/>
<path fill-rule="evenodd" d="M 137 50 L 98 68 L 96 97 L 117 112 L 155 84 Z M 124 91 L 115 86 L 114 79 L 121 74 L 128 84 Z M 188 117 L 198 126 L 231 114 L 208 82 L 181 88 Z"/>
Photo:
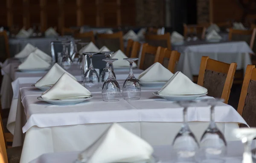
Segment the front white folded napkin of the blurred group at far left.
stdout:
<path fill-rule="evenodd" d="M 46 69 L 51 65 L 35 54 L 29 54 L 26 60 L 18 66 L 18 69 Z"/>

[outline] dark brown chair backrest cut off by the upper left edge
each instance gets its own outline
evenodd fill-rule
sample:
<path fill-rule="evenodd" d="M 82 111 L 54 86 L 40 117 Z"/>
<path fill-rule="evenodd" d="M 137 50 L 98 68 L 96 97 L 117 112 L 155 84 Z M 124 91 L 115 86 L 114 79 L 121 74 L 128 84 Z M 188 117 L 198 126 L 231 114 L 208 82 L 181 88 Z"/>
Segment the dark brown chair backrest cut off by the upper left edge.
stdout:
<path fill-rule="evenodd" d="M 3 62 L 6 58 L 10 57 L 9 41 L 6 31 L 0 32 L 0 61 Z"/>

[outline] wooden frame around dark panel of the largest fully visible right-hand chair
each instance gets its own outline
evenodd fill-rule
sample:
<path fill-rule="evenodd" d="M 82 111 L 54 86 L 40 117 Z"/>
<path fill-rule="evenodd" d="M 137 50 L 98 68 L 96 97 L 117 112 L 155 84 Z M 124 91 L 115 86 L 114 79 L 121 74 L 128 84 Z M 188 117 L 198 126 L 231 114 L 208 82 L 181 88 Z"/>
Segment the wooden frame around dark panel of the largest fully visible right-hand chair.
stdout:
<path fill-rule="evenodd" d="M 221 94 L 221 98 L 224 99 L 224 103 L 227 103 L 230 97 L 230 89 L 233 84 L 233 79 L 236 72 L 236 66 L 237 66 L 236 63 L 228 64 L 228 63 L 220 62 L 218 60 L 212 60 L 212 59 L 209 59 L 209 57 L 203 56 L 201 60 L 200 70 L 199 70 L 198 85 L 199 86 L 204 85 L 204 73 L 206 69 L 227 74 L 227 78 Z"/>

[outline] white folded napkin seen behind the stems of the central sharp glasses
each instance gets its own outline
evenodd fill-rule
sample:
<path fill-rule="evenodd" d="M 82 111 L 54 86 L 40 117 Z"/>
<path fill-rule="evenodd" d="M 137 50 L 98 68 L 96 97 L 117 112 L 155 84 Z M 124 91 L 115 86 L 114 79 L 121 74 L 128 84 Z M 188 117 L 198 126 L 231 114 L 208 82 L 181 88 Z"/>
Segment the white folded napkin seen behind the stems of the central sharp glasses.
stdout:
<path fill-rule="evenodd" d="M 112 54 L 112 58 L 117 58 L 115 62 L 113 62 L 113 67 L 129 67 L 130 63 L 127 60 L 123 60 L 124 58 L 128 58 L 121 50 L 118 50 Z M 137 67 L 136 63 L 133 63 L 132 67 Z"/>

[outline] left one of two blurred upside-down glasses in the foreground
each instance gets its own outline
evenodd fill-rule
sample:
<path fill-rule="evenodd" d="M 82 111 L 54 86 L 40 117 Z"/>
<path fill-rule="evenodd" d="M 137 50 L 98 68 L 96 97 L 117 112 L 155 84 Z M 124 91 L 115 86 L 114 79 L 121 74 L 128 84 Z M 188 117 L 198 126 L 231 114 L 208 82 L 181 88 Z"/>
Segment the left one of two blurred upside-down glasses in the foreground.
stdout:
<path fill-rule="evenodd" d="M 187 120 L 187 109 L 193 106 L 195 101 L 177 102 L 183 109 L 183 125 L 173 140 L 173 159 L 175 163 L 196 163 L 195 155 L 198 152 L 199 145 L 195 135 L 189 129 Z"/>

